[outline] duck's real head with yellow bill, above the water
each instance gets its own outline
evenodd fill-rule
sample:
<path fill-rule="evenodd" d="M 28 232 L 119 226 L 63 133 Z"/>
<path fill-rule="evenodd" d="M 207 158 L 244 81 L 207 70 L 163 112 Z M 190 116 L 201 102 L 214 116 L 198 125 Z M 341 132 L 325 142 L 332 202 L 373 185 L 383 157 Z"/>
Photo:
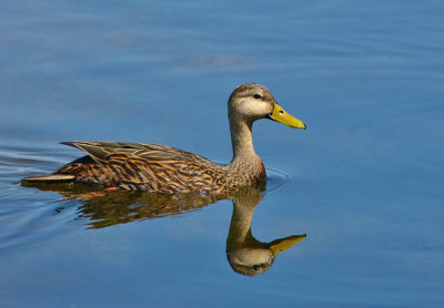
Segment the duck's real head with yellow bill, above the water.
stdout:
<path fill-rule="evenodd" d="M 246 123 L 270 119 L 293 129 L 306 129 L 301 120 L 286 113 L 271 92 L 259 83 L 244 83 L 233 90 L 229 99 L 229 117 L 230 121 Z"/>

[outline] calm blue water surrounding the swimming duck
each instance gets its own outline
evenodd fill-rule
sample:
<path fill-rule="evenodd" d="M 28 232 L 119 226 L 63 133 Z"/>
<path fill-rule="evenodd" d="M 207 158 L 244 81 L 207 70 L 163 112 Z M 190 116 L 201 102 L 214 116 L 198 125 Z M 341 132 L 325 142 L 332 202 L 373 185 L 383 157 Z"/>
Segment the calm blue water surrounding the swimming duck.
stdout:
<path fill-rule="evenodd" d="M 441 1 L 0 6 L 1 307 L 444 306 Z M 263 274 L 228 261 L 231 201 L 155 212 L 19 184 L 81 155 L 61 141 L 229 162 L 242 82 L 309 126 L 254 126 L 252 235 L 306 234 Z"/>

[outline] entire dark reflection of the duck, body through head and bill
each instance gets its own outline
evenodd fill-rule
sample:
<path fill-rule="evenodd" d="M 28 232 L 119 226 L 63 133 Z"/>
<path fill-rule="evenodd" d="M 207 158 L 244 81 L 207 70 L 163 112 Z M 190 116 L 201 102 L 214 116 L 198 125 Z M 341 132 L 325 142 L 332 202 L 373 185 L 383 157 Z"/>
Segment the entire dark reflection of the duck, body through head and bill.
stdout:
<path fill-rule="evenodd" d="M 143 219 L 174 216 L 200 209 L 221 199 L 233 202 L 233 214 L 226 238 L 226 258 L 232 269 L 239 274 L 254 276 L 271 268 L 275 256 L 305 238 L 290 235 L 270 243 L 258 240 L 251 232 L 253 213 L 260 204 L 266 183 L 243 187 L 221 195 L 183 194 L 165 195 L 143 192 L 97 191 L 89 186 L 70 184 L 41 184 L 22 182 L 26 187 L 52 191 L 64 199 L 77 198 L 77 219 L 89 219 L 89 228 L 104 228 Z M 60 206 L 58 212 L 63 211 Z"/>

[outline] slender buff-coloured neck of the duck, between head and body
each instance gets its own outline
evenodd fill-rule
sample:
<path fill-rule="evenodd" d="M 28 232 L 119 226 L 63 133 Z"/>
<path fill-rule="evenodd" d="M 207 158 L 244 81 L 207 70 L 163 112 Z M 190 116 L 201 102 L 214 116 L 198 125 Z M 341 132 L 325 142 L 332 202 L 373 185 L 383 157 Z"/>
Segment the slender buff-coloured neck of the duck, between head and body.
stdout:
<path fill-rule="evenodd" d="M 243 172 L 253 182 L 265 177 L 265 168 L 262 160 L 254 152 L 253 123 L 238 117 L 230 117 L 231 143 L 233 146 L 233 160 L 229 164 L 232 171 Z"/>

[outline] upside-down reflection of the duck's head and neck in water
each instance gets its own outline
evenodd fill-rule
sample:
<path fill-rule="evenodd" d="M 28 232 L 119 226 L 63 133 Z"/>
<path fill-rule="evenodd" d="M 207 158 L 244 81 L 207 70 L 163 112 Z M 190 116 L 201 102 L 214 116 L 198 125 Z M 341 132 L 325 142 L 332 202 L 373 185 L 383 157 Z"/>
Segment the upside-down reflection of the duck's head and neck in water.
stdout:
<path fill-rule="evenodd" d="M 251 234 L 251 220 L 255 206 L 261 201 L 260 189 L 250 189 L 233 197 L 233 216 L 226 239 L 226 258 L 232 269 L 239 274 L 254 276 L 274 263 L 274 257 L 305 238 L 292 235 L 270 243 L 259 242 Z"/>

